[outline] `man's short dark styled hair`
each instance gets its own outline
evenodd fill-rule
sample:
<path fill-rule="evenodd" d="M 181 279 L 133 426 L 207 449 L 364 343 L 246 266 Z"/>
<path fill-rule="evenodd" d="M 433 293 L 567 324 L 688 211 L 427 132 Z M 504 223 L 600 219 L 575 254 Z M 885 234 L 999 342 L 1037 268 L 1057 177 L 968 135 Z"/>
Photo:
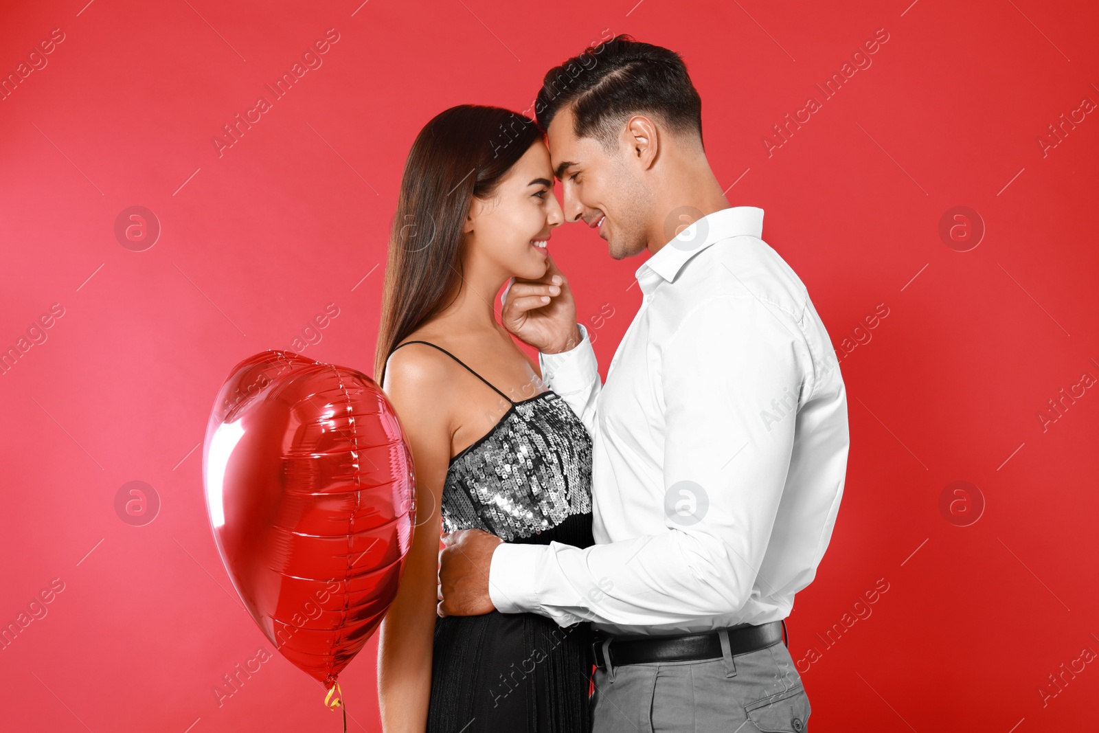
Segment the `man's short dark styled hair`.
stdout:
<path fill-rule="evenodd" d="M 632 114 L 654 114 L 676 132 L 702 140 L 702 100 L 687 66 L 674 51 L 628 34 L 589 46 L 550 69 L 534 103 L 539 126 L 571 105 L 577 137 L 593 137 L 611 151 Z"/>

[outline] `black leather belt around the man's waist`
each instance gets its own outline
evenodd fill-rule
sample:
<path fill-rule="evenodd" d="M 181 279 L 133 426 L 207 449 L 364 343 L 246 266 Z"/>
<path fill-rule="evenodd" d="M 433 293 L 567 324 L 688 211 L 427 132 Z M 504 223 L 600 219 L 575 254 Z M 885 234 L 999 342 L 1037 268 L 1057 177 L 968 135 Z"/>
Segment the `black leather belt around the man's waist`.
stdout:
<path fill-rule="evenodd" d="M 725 631 L 729 634 L 731 656 L 755 652 L 782 641 L 781 621 L 771 621 L 757 626 L 730 626 Z M 675 636 L 625 636 L 596 631 L 593 638 L 591 652 L 595 655 L 596 666 L 600 669 L 607 668 L 603 648 L 607 649 L 613 667 L 624 664 L 722 657 L 721 636 L 717 631 Z M 610 644 L 604 647 L 607 640 L 610 640 Z"/>

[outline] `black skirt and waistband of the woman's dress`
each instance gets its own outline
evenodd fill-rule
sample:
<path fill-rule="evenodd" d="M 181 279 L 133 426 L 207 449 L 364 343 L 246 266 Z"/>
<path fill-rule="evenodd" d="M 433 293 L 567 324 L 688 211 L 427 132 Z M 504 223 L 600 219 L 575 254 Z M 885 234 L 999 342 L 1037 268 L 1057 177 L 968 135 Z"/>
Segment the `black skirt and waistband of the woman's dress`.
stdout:
<path fill-rule="evenodd" d="M 591 514 L 517 544 L 595 544 Z M 591 628 L 536 613 L 435 621 L 428 733 L 588 733 Z"/>

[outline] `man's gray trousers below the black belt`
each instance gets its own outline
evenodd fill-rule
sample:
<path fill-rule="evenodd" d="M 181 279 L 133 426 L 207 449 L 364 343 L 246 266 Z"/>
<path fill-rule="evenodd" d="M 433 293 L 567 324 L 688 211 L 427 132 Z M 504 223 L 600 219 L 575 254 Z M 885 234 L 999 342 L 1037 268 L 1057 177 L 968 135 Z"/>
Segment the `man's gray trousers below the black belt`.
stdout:
<path fill-rule="evenodd" d="M 597 669 L 592 733 L 804 733 L 809 698 L 786 645 L 701 662 Z"/>

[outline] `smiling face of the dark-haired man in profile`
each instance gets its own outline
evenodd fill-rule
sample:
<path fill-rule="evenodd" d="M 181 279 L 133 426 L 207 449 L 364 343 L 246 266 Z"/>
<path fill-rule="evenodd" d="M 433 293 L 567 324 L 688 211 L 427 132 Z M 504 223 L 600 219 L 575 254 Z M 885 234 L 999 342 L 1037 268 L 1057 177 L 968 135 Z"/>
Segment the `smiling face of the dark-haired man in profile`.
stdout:
<path fill-rule="evenodd" d="M 614 259 L 645 249 L 651 213 L 646 204 L 652 197 L 630 168 L 624 140 L 608 153 L 593 137 L 577 137 L 571 108 L 554 116 L 546 137 L 554 173 L 564 188 L 565 221 L 582 221 L 596 229 Z"/>

